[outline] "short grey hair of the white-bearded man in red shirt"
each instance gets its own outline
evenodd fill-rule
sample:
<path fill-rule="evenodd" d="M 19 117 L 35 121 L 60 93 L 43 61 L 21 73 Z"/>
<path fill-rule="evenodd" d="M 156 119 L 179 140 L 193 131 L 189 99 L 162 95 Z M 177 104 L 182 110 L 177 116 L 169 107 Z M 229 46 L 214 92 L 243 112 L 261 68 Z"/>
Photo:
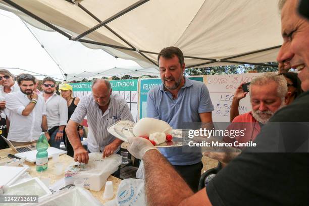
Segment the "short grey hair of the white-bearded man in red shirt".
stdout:
<path fill-rule="evenodd" d="M 283 75 L 278 75 L 275 73 L 265 73 L 261 76 L 255 77 L 251 82 L 249 86 L 249 94 L 251 96 L 251 86 L 252 85 L 267 85 L 270 82 L 276 82 L 277 83 L 277 94 L 279 97 L 281 97 L 282 100 L 284 100 L 285 95 L 287 93 L 287 81 Z"/>

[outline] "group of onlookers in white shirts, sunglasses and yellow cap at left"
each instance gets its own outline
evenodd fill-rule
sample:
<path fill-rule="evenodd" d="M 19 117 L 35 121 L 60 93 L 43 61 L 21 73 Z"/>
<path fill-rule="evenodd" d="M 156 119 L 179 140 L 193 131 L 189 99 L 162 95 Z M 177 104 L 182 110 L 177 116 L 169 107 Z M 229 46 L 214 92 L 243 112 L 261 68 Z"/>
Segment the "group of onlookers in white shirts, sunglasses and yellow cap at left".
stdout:
<path fill-rule="evenodd" d="M 50 146 L 60 148 L 64 140 L 68 155 L 73 157 L 73 148 L 64 138 L 64 128 L 79 98 L 73 97 L 71 85 L 61 84 L 61 95 L 56 93 L 56 86 L 53 78 L 45 77 L 41 92 L 33 75 L 23 73 L 15 78 L 8 70 L 0 70 L 1 134 L 14 146 L 34 143 L 44 132 Z M 83 126 L 78 128 L 81 139 Z M 6 147 L 8 144 L 0 138 L 0 148 Z"/>

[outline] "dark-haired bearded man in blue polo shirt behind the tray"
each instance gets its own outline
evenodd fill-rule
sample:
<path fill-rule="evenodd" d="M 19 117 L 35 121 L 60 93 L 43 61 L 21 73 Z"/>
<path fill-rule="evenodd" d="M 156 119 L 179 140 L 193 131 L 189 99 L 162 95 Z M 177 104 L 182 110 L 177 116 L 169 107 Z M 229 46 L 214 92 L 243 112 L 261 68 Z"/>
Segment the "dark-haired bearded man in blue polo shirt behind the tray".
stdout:
<path fill-rule="evenodd" d="M 162 84 L 148 92 L 147 117 L 163 120 L 173 129 L 184 122 L 212 122 L 213 104 L 206 85 L 183 76 L 184 58 L 177 47 L 167 47 L 158 56 Z M 175 167 L 193 191 L 197 191 L 202 154 L 165 147 L 161 153 Z"/>

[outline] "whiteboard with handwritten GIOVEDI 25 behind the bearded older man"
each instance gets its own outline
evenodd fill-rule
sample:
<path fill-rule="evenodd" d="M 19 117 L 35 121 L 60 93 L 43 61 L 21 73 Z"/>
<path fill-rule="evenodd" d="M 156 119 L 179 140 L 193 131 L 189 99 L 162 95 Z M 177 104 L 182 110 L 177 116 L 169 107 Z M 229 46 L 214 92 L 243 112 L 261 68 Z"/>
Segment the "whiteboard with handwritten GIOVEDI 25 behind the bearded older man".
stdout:
<path fill-rule="evenodd" d="M 213 122 L 230 122 L 230 109 L 234 93 L 242 82 L 250 82 L 257 76 L 264 73 L 245 73 L 229 75 L 207 75 L 204 83 L 212 99 L 214 111 L 212 113 Z M 249 94 L 240 100 L 239 114 L 251 111 Z"/>

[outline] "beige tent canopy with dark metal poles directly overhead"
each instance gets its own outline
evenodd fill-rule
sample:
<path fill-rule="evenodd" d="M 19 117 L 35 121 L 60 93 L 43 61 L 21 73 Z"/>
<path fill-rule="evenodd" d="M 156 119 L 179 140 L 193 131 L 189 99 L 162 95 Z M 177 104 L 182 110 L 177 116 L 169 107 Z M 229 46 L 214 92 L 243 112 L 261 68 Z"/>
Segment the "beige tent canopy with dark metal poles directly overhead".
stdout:
<path fill-rule="evenodd" d="M 157 64 L 157 53 L 166 46 L 181 48 L 188 57 L 186 66 L 193 67 L 273 62 L 282 43 L 277 0 L 0 3 L 35 27 L 53 27 L 71 40 L 93 43 L 87 46 L 134 60 L 144 68 Z"/>

